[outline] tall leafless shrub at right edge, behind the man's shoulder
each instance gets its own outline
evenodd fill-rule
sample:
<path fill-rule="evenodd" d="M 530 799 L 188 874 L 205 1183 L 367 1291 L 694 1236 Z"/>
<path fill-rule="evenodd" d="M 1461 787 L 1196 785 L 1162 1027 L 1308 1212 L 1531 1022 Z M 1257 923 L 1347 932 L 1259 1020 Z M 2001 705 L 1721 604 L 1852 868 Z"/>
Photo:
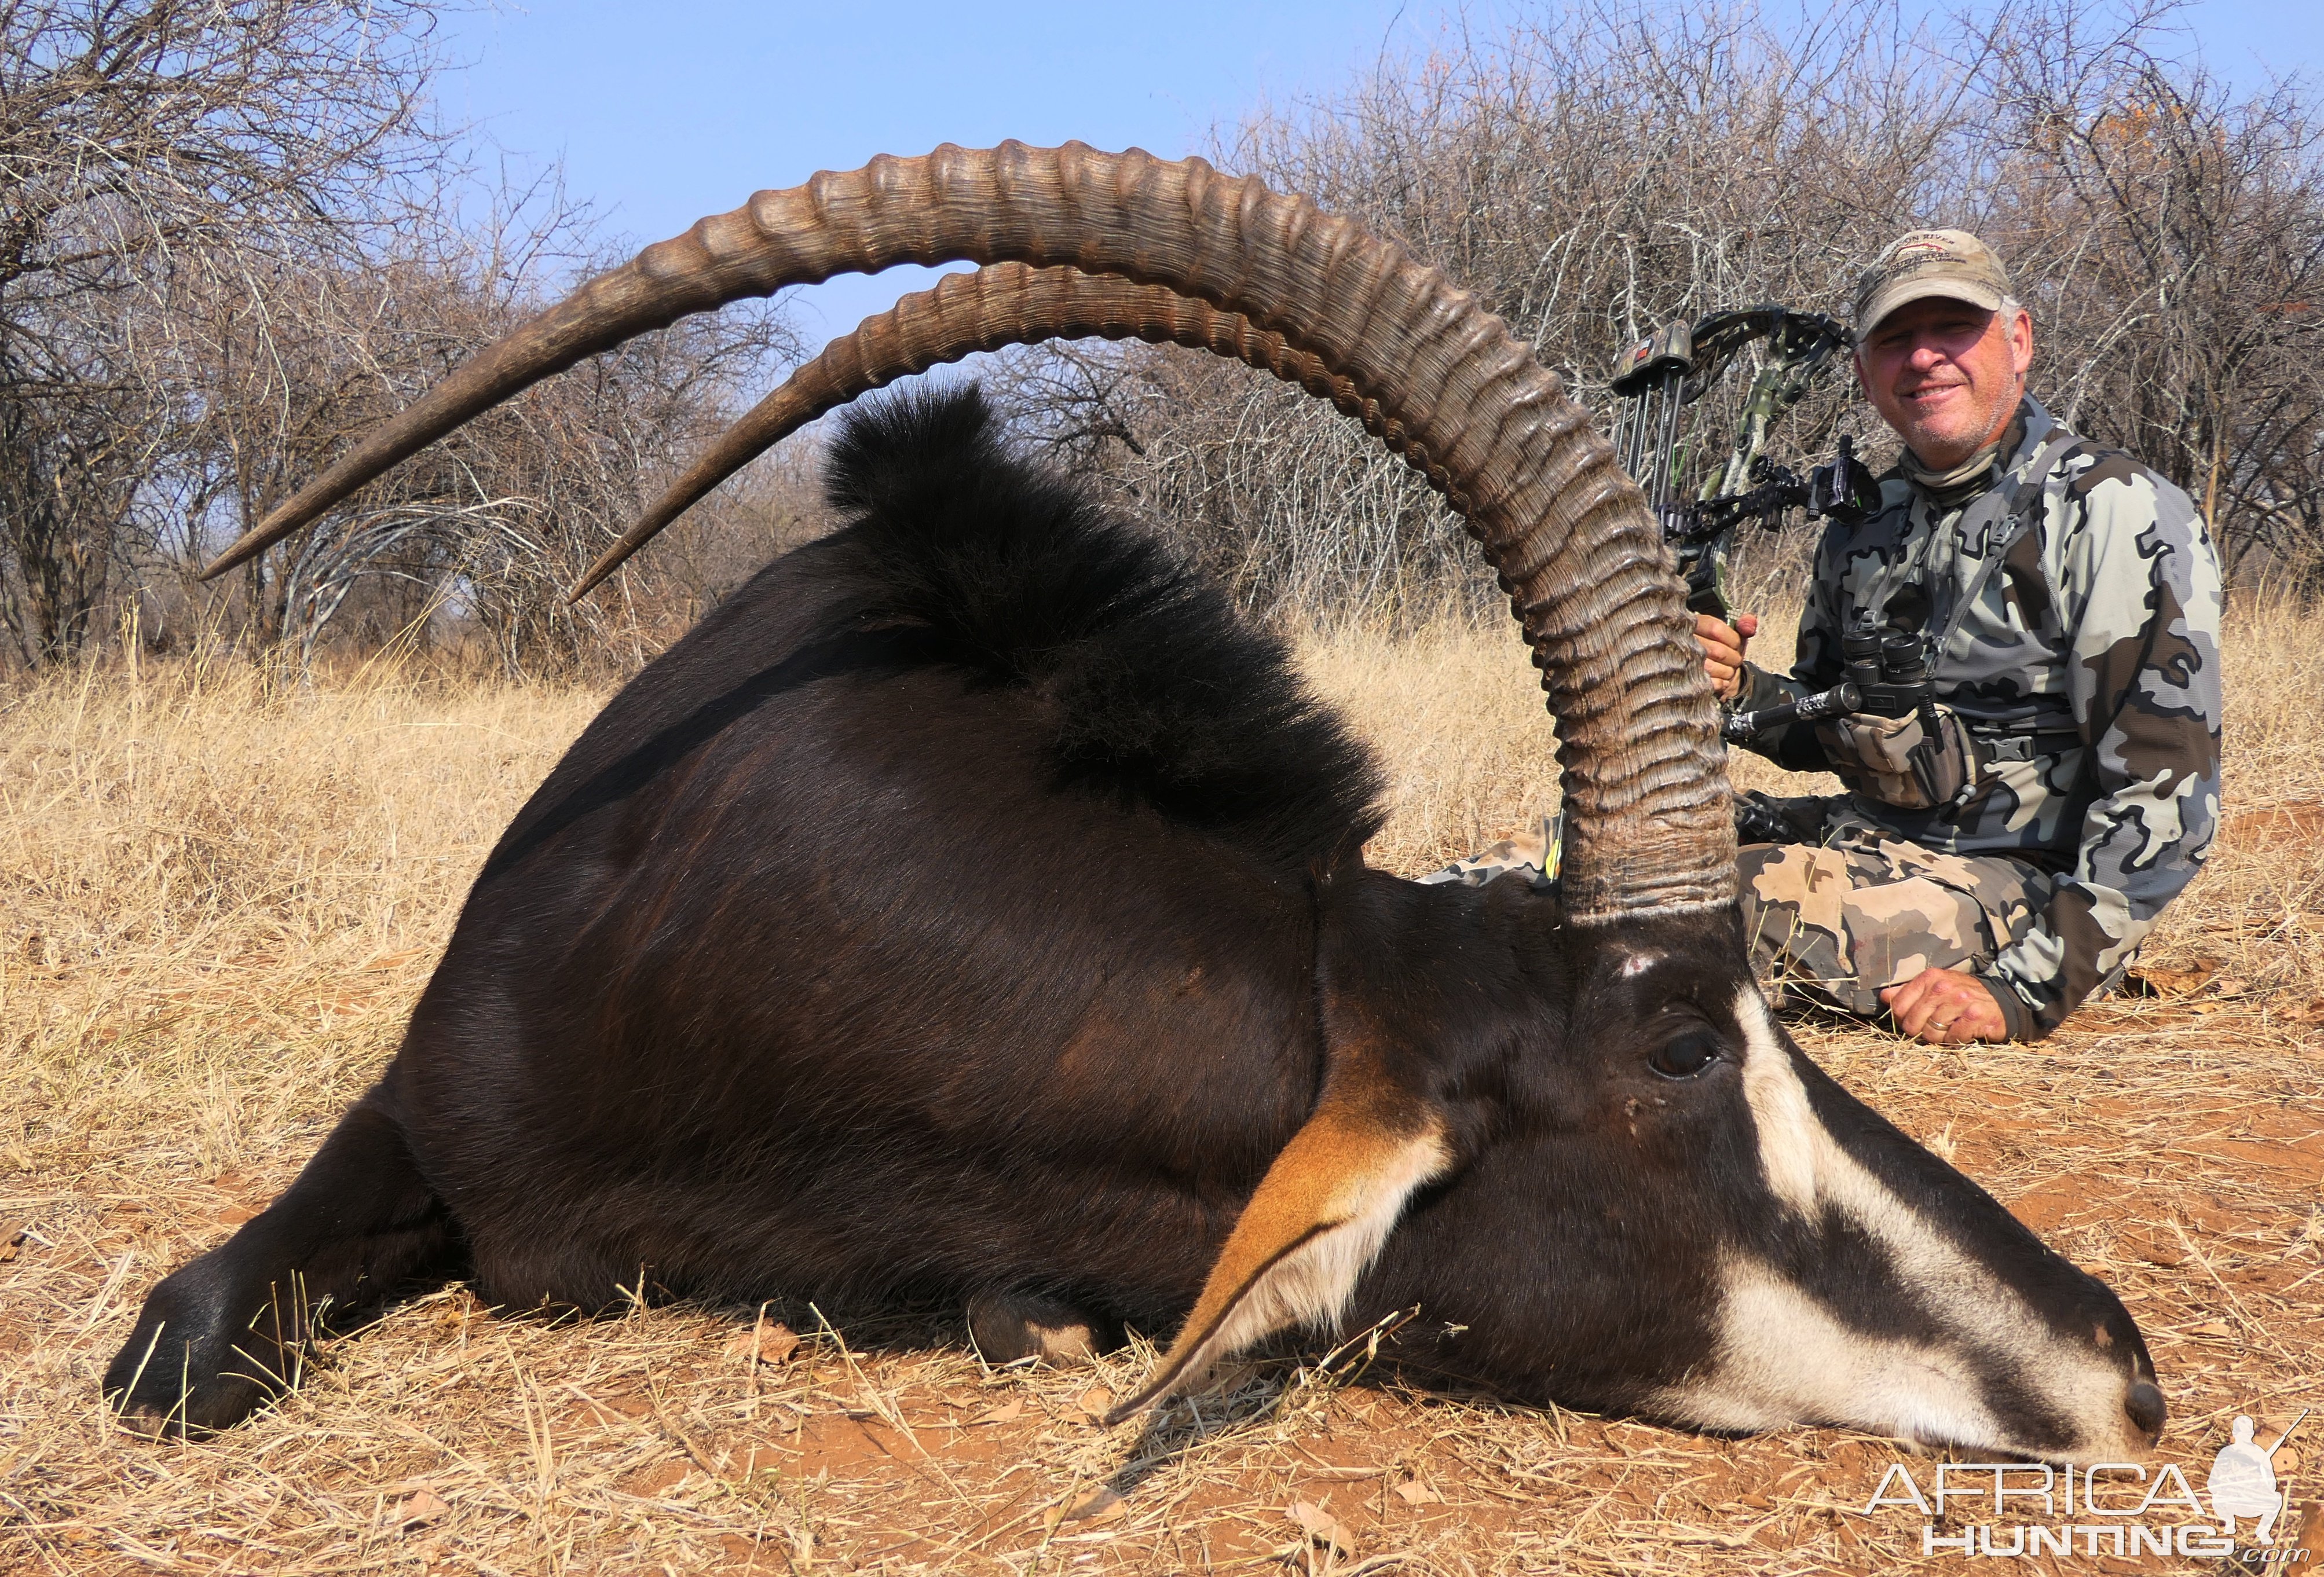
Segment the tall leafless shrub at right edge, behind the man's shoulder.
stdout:
<path fill-rule="evenodd" d="M 2324 574 L 2324 123 L 2145 28 L 2031 12 L 1989 51 L 1989 228 L 2045 327 L 2045 390 L 2185 488 L 2229 560 Z"/>

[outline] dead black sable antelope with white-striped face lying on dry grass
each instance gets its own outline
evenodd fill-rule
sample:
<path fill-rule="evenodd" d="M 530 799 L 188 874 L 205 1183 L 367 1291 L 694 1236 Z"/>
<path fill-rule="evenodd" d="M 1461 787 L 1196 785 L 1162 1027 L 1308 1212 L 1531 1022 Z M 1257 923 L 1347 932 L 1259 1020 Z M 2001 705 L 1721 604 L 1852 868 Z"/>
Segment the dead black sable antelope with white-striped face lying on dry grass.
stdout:
<path fill-rule="evenodd" d="M 1769 1017 L 1636 488 L 1499 318 L 1343 218 L 1083 146 L 760 193 L 456 372 L 221 567 L 630 334 L 955 258 L 1206 302 L 1241 321 L 1215 348 L 1443 488 L 1559 718 L 1562 887 L 1367 869 L 1378 778 L 1278 643 L 974 397 L 862 411 L 848 525 L 588 727 L 379 1085 L 146 1298 L 116 1403 L 218 1428 L 325 1322 L 451 1277 L 604 1308 L 644 1268 L 1176 1328 L 1122 1414 L 1418 1303 L 1411 1356 L 1522 1398 L 2143 1454 L 2164 1398 L 2122 1305 Z"/>

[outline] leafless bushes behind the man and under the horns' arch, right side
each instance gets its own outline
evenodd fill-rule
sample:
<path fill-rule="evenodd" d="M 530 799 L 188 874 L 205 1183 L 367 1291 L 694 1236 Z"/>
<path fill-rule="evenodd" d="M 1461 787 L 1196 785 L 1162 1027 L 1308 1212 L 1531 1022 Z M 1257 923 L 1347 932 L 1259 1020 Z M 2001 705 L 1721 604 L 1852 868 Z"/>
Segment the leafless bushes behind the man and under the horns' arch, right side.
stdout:
<path fill-rule="evenodd" d="M 1871 253 L 1964 225 L 2036 318 L 2033 390 L 2185 488 L 2231 569 L 2324 581 L 2324 170 L 2305 84 L 2238 88 L 2171 7 L 2033 0 L 1806 30 L 1755 5 L 1576 0 L 1262 109 L 1220 163 L 1360 214 L 1485 295 L 1611 411 L 1615 353 L 1671 318 L 1845 316 Z M 1729 374 L 1692 453 L 1724 455 Z M 1492 602 L 1427 488 L 1262 374 L 1176 348 L 1018 355 L 1025 425 L 1157 509 L 1262 613 L 1425 620 Z M 1845 369 L 1778 427 L 1806 460 L 1894 439 Z M 1757 555 L 1766 585 L 1801 541 Z"/>

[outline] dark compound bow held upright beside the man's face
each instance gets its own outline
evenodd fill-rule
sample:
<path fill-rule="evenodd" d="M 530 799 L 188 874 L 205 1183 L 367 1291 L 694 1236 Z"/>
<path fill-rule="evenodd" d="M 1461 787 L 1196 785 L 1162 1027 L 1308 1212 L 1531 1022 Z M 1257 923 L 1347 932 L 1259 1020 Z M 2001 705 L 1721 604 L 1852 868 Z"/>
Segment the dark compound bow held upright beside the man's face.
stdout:
<path fill-rule="evenodd" d="M 1678 497 L 1687 455 L 1680 446 L 1685 409 L 1701 399 L 1727 365 L 1748 346 L 1766 341 L 1766 355 L 1743 395 L 1734 444 L 1724 467 L 1694 499 Z M 1857 462 L 1855 439 L 1841 437 L 1831 465 L 1801 478 L 1773 465 L 1766 448 L 1769 423 L 1799 404 L 1815 379 L 1848 344 L 1848 325 L 1813 311 L 1755 307 L 1715 311 L 1699 323 L 1671 323 L 1641 339 L 1615 362 L 1613 446 L 1662 520 L 1662 539 L 1678 550 L 1687 578 L 1687 606 L 1734 620 L 1727 602 L 1727 557 L 1745 520 L 1766 530 L 1783 525 L 1785 511 L 1803 509 L 1855 525 L 1880 506 L 1880 485 Z"/>

